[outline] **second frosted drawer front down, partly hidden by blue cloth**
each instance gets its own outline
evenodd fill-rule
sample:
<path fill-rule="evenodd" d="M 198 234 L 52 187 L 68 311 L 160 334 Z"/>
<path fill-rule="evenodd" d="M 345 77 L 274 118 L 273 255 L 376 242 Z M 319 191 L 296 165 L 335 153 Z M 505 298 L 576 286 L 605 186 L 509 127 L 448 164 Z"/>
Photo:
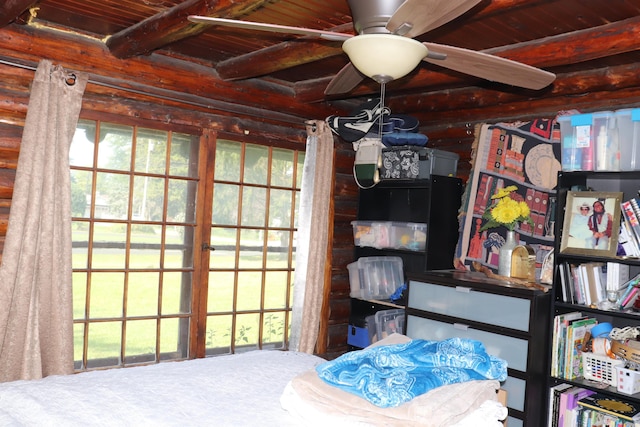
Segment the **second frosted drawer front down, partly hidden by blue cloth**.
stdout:
<path fill-rule="evenodd" d="M 441 341 L 459 337 L 478 340 L 484 344 L 487 353 L 506 360 L 511 369 L 527 371 L 529 343 L 526 340 L 472 329 L 463 324 L 438 322 L 413 315 L 407 316 L 406 328 L 406 335 L 411 338 Z"/>

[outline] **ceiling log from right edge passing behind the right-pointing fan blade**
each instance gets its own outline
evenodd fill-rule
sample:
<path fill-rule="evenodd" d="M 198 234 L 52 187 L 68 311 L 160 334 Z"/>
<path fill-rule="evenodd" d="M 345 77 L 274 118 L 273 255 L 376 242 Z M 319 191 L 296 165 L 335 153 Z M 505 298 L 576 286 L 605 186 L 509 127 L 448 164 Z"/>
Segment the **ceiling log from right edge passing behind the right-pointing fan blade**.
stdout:
<path fill-rule="evenodd" d="M 640 17 L 634 17 L 596 28 L 487 49 L 482 52 L 534 67 L 549 69 L 639 50 L 640 45 L 638 45 L 637 41 L 633 37 L 629 37 L 629 34 L 639 33 Z M 462 82 L 460 74 L 447 69 L 432 71 L 427 67 L 431 67 L 431 64 L 428 66 L 423 65 L 410 78 L 391 82 L 387 86 L 387 90 L 390 92 L 394 90 L 416 92 L 424 91 L 429 87 L 437 88 L 442 85 L 455 85 L 456 82 Z M 324 89 L 330 80 L 331 78 L 328 77 L 315 79 L 309 83 L 295 84 L 296 98 L 302 102 L 324 100 Z M 469 78 L 464 77 L 464 80 L 468 81 Z M 349 95 L 353 97 L 366 96 L 375 94 L 378 90 L 378 85 L 367 79 L 364 85 L 361 85 Z"/>

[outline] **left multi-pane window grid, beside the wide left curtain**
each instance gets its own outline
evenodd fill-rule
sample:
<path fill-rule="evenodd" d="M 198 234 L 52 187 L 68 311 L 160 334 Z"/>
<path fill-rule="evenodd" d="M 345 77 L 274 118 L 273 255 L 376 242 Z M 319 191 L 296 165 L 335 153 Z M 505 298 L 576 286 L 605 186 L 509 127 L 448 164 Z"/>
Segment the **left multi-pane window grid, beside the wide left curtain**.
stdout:
<path fill-rule="evenodd" d="M 173 139 L 78 124 L 70 150 L 77 370 L 188 357 L 199 139 Z"/>

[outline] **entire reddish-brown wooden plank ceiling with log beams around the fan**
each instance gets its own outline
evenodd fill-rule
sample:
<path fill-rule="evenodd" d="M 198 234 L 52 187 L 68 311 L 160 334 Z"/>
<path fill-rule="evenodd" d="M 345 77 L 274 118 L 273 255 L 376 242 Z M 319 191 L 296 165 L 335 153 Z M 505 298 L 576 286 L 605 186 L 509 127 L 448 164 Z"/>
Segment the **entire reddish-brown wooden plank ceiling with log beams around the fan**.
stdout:
<path fill-rule="evenodd" d="M 164 55 L 204 64 L 220 79 L 282 85 L 305 102 L 327 100 L 326 85 L 348 60 L 339 42 L 204 26 L 189 22 L 190 14 L 353 33 L 346 0 L 5 0 L 0 27 L 72 31 L 102 40 L 116 58 Z M 570 76 L 638 62 L 639 34 L 638 0 L 484 0 L 418 39 L 486 51 Z M 465 86 L 530 93 L 428 63 L 392 82 L 388 90 L 426 96 Z M 366 80 L 333 99 L 377 91 L 377 84 Z"/>

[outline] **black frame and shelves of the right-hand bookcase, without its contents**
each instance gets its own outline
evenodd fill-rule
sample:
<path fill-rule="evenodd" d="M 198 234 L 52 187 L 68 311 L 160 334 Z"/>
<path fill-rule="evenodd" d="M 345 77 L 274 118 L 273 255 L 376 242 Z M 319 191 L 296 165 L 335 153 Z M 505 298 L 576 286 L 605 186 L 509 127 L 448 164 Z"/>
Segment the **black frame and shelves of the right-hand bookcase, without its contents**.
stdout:
<path fill-rule="evenodd" d="M 554 344 L 553 344 L 553 319 L 558 315 L 566 315 L 571 312 L 581 312 L 588 317 L 594 317 L 599 323 L 608 322 L 614 328 L 623 328 L 626 326 L 640 327 L 640 312 L 632 309 L 627 310 L 604 310 L 598 308 L 597 304 L 585 305 L 572 303 L 566 301 L 566 293 L 563 295 L 562 287 L 562 268 L 561 265 L 581 265 L 587 263 L 606 263 L 615 262 L 624 266 L 629 266 L 629 277 L 634 277 L 640 273 L 640 259 L 619 257 L 615 255 L 602 256 L 593 254 L 590 251 L 584 253 L 574 253 L 562 251 L 561 239 L 564 228 L 564 216 L 565 212 L 572 213 L 570 206 L 566 206 L 567 193 L 573 191 L 594 191 L 594 192 L 620 192 L 622 193 L 622 200 L 629 200 L 638 196 L 638 190 L 640 190 L 640 171 L 624 171 L 624 172 L 591 172 L 591 171 L 576 171 L 576 172 L 559 172 L 558 173 L 558 209 L 556 214 L 555 230 L 556 239 L 555 243 L 555 256 L 554 256 L 554 283 L 551 290 L 552 300 L 552 313 L 551 313 L 551 344 L 549 345 L 550 354 L 549 360 L 552 361 L 551 370 L 549 375 L 549 403 L 551 403 L 551 395 L 553 388 L 559 384 L 567 383 L 574 386 L 583 387 L 598 393 L 608 396 L 611 399 L 618 399 L 620 401 L 629 402 L 633 405 L 640 404 L 640 393 L 627 394 L 618 391 L 617 386 L 603 385 L 602 382 L 594 381 L 592 378 L 585 378 L 590 376 L 589 372 L 578 376 L 573 379 L 567 379 L 562 374 L 554 372 L 553 370 L 553 357 L 554 357 Z M 579 251 L 578 251 L 579 252 Z M 584 367 L 583 367 L 584 368 Z M 583 371 L 584 372 L 584 371 Z M 548 407 L 548 412 L 553 411 L 551 405 Z"/>

